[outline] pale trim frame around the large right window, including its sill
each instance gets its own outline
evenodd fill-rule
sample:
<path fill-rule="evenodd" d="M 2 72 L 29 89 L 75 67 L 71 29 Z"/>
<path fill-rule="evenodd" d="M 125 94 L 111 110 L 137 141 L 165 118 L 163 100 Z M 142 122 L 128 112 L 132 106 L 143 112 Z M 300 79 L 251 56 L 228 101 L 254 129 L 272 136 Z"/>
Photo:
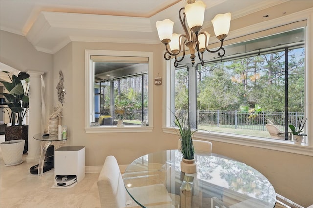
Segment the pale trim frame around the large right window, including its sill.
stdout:
<path fill-rule="evenodd" d="M 194 134 L 194 138 L 199 138 L 203 140 L 209 141 L 217 141 L 224 142 L 236 145 L 243 146 L 252 146 L 257 148 L 264 148 L 282 152 L 289 152 L 301 155 L 308 155 L 313 157 L 313 82 L 309 82 L 313 80 L 313 8 L 306 9 L 304 11 L 300 11 L 291 15 L 286 15 L 281 18 L 277 18 L 275 20 L 262 22 L 259 24 L 255 24 L 250 27 L 241 28 L 236 31 L 231 31 L 235 37 L 243 37 L 252 33 L 260 32 L 265 29 L 274 28 L 278 26 L 283 26 L 292 22 L 307 20 L 306 27 L 306 43 L 305 43 L 305 62 L 306 62 L 306 112 L 305 115 L 308 117 L 308 143 L 305 145 L 295 145 L 292 141 L 285 140 L 275 140 L 275 139 L 266 139 L 266 138 L 257 138 L 257 137 L 249 137 L 243 135 L 234 135 L 234 134 L 225 134 L 225 133 L 217 133 L 217 132 L 201 132 L 197 131 Z M 231 34 L 227 37 L 231 38 Z M 163 51 L 164 53 L 164 51 Z M 170 126 L 170 71 L 167 70 L 171 67 L 171 62 L 163 59 L 163 74 L 164 76 L 164 85 L 163 85 L 163 132 L 170 134 L 177 134 L 177 131 L 173 127 Z M 311 95 L 309 97 L 309 95 Z"/>

